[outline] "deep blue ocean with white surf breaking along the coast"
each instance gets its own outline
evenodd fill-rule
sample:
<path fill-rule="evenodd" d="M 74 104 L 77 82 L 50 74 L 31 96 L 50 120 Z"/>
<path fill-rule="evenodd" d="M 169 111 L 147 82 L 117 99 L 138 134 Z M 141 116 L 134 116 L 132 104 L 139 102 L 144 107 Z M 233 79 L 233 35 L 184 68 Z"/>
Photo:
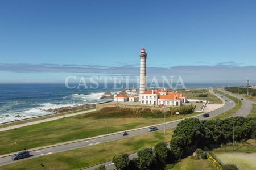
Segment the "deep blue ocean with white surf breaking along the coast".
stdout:
<path fill-rule="evenodd" d="M 217 84 L 221 86 L 221 84 Z M 214 84 L 186 84 L 187 88 L 209 87 Z M 95 104 L 111 99 L 100 99 L 104 92 L 117 93 L 113 86 L 104 89 L 69 89 L 65 84 L 0 84 L 0 123 L 51 114 L 44 111 L 76 104 Z M 15 117 L 16 116 L 16 117 Z M 19 117 L 17 117 L 19 116 Z"/>

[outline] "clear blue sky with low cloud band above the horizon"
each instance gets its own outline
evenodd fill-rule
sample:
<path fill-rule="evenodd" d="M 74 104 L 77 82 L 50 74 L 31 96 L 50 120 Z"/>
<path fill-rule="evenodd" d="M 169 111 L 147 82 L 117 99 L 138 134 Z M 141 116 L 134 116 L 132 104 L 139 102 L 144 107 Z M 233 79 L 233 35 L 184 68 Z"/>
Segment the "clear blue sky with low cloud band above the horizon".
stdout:
<path fill-rule="evenodd" d="M 139 75 L 256 84 L 256 1 L 0 1 L 0 83 Z"/>

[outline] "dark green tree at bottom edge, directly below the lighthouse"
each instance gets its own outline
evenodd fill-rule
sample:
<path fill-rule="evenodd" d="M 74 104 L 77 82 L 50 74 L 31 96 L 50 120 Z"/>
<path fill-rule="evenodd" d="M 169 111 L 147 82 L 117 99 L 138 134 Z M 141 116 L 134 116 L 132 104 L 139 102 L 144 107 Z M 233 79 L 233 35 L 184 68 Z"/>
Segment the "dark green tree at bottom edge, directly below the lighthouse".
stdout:
<path fill-rule="evenodd" d="M 141 148 L 137 155 L 140 169 L 155 169 L 156 156 L 151 148 Z"/>

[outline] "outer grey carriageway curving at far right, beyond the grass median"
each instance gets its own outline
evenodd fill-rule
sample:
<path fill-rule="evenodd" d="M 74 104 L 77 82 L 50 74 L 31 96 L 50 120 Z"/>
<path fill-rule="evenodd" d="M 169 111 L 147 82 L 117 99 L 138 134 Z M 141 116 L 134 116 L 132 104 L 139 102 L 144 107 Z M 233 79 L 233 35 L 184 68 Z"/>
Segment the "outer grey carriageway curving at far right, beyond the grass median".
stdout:
<path fill-rule="evenodd" d="M 250 113 L 251 109 L 253 108 L 253 101 L 251 100 L 247 100 L 245 98 L 243 98 L 242 96 L 239 95 L 235 95 L 232 92 L 228 92 L 222 89 L 218 89 L 221 92 L 225 92 L 225 94 L 236 97 L 238 99 L 239 102 L 242 102 L 242 106 L 241 108 L 234 114 L 232 114 L 230 117 L 235 117 L 235 116 L 242 116 L 242 117 L 246 117 L 247 114 Z M 243 100 L 241 100 L 243 99 Z"/>

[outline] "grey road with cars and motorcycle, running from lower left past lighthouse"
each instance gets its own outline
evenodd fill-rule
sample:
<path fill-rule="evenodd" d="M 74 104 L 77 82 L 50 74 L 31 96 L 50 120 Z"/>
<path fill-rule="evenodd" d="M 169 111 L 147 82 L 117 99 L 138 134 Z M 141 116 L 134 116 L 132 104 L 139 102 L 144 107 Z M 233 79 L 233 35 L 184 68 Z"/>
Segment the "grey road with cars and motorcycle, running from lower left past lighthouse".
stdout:
<path fill-rule="evenodd" d="M 215 94 L 218 95 L 218 94 Z M 218 95 L 220 96 L 220 95 Z M 226 110 L 230 109 L 234 107 L 234 103 L 230 103 L 229 101 L 225 102 L 225 105 L 221 108 L 218 108 L 212 112 L 209 112 L 210 117 L 213 116 L 217 116 L 218 114 L 221 114 L 223 112 L 225 112 Z M 204 120 L 206 118 L 200 116 L 195 116 L 195 118 L 199 118 L 199 120 Z M 181 120 L 179 121 L 175 121 L 175 122 L 170 122 L 166 124 L 166 128 L 174 128 L 175 126 L 177 126 L 177 124 L 179 124 Z M 148 128 L 141 128 L 138 130 L 127 130 L 129 131 L 129 137 L 131 136 L 135 136 L 135 135 L 141 135 L 144 133 L 148 133 L 147 132 Z M 158 126 L 159 130 L 163 130 L 164 129 L 164 125 L 159 125 Z M 53 147 L 48 147 L 48 148 L 42 148 L 40 150 L 34 150 L 31 151 L 31 154 L 34 156 L 31 156 L 30 158 L 27 159 L 32 159 L 32 158 L 36 158 L 39 156 L 45 156 L 45 155 L 49 155 L 49 154 L 55 154 L 57 152 L 63 152 L 63 151 L 67 151 L 67 150 L 73 150 L 76 148 L 80 148 L 80 147 L 87 147 L 87 146 L 92 146 L 92 145 L 97 145 L 98 143 L 104 143 L 104 142 L 108 142 L 108 141 L 115 141 L 117 139 L 122 139 L 125 138 L 122 136 L 123 132 L 117 133 L 117 134 L 112 134 L 112 135 L 107 135 L 104 137 L 98 137 L 98 138 L 93 138 L 93 139 L 88 139 L 85 141 L 79 141 L 79 142 L 73 142 L 73 143 L 67 143 L 64 145 L 60 145 L 60 146 L 53 146 Z M 29 150 L 28 150 L 29 151 Z M 20 162 L 26 159 L 21 159 L 21 160 L 16 160 L 15 162 Z M 11 160 L 11 156 L 5 156 L 3 158 L 0 158 L 0 165 L 5 165 L 5 164 L 10 164 L 13 163 L 13 161 Z"/>

